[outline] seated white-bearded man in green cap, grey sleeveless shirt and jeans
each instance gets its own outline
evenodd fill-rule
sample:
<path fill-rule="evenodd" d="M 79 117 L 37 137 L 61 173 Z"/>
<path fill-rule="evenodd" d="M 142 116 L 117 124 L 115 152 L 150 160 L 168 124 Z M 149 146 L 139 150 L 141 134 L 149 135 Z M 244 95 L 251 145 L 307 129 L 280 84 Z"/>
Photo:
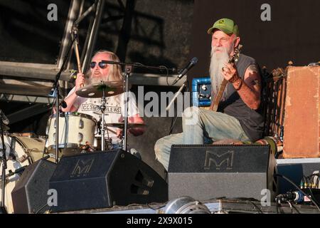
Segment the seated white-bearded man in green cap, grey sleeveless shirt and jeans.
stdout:
<path fill-rule="evenodd" d="M 238 26 L 231 19 L 215 21 L 208 29 L 212 35 L 210 79 L 214 95 L 225 78 L 218 112 L 196 106 L 186 108 L 182 115 L 183 133 L 160 138 L 154 150 L 156 159 L 168 170 L 171 145 L 203 144 L 204 140 L 233 139 L 255 141 L 262 138 L 264 121 L 260 115 L 261 78 L 255 59 L 240 54 L 238 62 L 229 63 L 240 43 Z M 196 116 L 195 123 L 188 119 Z M 192 122 L 192 121 L 191 121 Z"/>

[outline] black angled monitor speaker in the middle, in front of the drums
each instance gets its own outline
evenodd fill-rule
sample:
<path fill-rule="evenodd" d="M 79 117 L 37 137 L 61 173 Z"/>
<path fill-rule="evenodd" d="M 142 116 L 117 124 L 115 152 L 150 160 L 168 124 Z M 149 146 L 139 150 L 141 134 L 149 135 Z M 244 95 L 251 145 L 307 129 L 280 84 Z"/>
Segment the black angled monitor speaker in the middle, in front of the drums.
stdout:
<path fill-rule="evenodd" d="M 166 181 L 124 150 L 62 157 L 50 189 L 58 193 L 58 205 L 51 207 L 51 212 L 168 200 Z"/>

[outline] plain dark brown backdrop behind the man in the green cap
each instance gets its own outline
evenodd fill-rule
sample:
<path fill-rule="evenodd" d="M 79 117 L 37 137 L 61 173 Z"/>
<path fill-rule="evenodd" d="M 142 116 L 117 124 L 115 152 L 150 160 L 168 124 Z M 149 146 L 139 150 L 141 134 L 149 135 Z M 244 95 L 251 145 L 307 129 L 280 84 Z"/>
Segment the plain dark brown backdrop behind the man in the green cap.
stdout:
<path fill-rule="evenodd" d="M 262 21 L 262 4 L 270 4 L 271 21 Z M 306 66 L 319 61 L 320 1 L 304 0 L 196 0 L 193 11 L 191 57 L 198 64 L 188 78 L 208 76 L 210 39 L 207 30 L 223 17 L 239 26 L 242 53 L 255 58 L 269 71 L 287 66 Z"/>

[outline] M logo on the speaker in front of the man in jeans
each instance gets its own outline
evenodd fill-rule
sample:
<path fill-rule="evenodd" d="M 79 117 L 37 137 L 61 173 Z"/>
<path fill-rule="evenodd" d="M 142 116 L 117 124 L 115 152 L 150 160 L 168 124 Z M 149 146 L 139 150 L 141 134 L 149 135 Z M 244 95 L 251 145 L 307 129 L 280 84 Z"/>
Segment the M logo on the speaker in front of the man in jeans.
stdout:
<path fill-rule="evenodd" d="M 206 151 L 206 157 L 204 162 L 204 169 L 205 170 L 220 170 L 221 165 L 223 163 L 226 164 L 227 170 L 233 169 L 233 150 L 228 150 L 228 152 L 225 152 L 221 155 L 219 155 L 217 152 L 214 152 L 212 150 Z"/>

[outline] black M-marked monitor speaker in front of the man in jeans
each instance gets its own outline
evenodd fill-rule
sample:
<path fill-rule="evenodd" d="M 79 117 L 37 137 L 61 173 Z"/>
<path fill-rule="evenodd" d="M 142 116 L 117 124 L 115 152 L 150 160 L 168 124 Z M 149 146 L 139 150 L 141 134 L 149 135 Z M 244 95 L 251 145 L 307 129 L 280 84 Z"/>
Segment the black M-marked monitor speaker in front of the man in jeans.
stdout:
<path fill-rule="evenodd" d="M 190 196 L 198 200 L 260 200 L 270 194 L 273 200 L 277 194 L 274 170 L 269 145 L 172 145 L 169 199 Z"/>

